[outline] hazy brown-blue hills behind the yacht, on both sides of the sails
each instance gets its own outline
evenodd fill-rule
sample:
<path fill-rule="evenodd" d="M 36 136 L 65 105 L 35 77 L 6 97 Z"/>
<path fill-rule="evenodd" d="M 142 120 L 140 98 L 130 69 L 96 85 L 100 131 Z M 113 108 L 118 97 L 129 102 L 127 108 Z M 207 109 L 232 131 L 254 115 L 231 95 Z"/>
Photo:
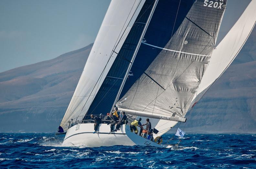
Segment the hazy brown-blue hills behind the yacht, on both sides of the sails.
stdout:
<path fill-rule="evenodd" d="M 0 132 L 55 132 L 91 47 L 0 73 Z M 228 70 L 187 115 L 185 131 L 256 133 L 255 54 L 256 29 Z"/>

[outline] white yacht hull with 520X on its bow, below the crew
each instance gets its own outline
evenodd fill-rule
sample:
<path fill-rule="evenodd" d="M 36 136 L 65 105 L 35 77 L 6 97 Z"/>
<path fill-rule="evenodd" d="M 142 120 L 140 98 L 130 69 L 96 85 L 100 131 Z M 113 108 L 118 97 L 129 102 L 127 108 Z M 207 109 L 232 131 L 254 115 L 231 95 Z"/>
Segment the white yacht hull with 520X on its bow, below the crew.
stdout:
<path fill-rule="evenodd" d="M 100 146 L 156 146 L 169 148 L 171 146 L 158 145 L 155 142 L 145 139 L 139 135 L 136 135 L 130 131 L 128 125 L 121 126 L 120 130 L 112 134 L 108 134 L 110 131 L 110 125 L 100 124 L 99 132 L 93 134 L 93 123 L 78 124 L 71 128 L 66 133 L 63 146 L 79 146 L 84 145 L 88 147 L 100 147 Z"/>

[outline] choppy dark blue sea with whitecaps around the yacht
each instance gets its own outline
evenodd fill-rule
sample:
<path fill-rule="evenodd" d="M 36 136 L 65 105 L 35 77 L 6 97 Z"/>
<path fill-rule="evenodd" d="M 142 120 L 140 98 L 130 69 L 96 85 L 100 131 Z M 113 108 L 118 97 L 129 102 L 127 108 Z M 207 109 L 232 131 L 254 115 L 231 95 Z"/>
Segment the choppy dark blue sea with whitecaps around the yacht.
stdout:
<path fill-rule="evenodd" d="M 172 136 L 164 135 L 164 141 Z M 5 133 L 0 168 L 256 168 L 256 135 L 186 134 L 181 140 L 169 149 L 89 148 L 61 146 L 53 133 Z"/>

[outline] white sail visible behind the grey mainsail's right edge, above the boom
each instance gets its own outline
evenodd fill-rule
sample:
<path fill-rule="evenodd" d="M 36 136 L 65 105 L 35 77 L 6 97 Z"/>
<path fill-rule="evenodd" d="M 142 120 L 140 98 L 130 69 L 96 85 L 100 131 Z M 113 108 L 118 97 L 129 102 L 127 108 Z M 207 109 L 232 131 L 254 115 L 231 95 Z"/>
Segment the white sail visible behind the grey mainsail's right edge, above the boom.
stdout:
<path fill-rule="evenodd" d="M 230 3 L 235 2 L 229 1 L 229 4 Z M 210 87 L 228 69 L 232 61 L 242 49 L 256 23 L 255 6 L 256 1 L 251 1 L 240 15 L 239 19 L 234 23 L 230 30 L 225 33 L 225 37 L 215 47 L 209 66 L 205 71 L 200 85 L 198 86 L 197 95 L 194 96 L 193 101 L 190 104 L 190 108 L 192 108 L 195 103 L 203 97 Z M 227 8 L 226 10 L 228 9 L 230 8 Z M 225 23 L 228 21 L 224 20 L 223 22 Z"/>

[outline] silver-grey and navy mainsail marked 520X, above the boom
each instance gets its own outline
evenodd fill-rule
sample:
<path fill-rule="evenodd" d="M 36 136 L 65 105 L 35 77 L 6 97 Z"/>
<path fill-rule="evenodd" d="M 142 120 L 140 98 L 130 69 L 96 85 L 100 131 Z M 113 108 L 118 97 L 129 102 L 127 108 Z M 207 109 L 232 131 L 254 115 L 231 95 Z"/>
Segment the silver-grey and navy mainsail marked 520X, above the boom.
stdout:
<path fill-rule="evenodd" d="M 159 1 L 117 107 L 184 122 L 180 118 L 207 69 L 225 7 L 226 1 L 212 7 L 203 0 Z"/>

